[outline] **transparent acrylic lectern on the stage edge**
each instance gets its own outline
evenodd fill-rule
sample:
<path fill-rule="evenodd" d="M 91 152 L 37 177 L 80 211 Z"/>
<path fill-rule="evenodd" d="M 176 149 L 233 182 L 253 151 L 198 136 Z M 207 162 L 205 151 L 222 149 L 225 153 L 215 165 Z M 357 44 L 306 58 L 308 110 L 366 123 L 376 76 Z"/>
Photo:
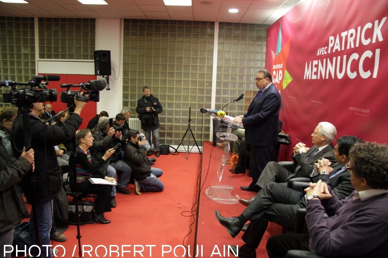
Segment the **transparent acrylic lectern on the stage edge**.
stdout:
<path fill-rule="evenodd" d="M 233 132 L 238 128 L 243 128 L 242 124 L 235 123 L 227 118 L 220 118 L 214 114 L 211 114 L 217 120 L 218 130 L 215 134 L 217 142 L 225 142 L 224 152 L 220 155 L 220 164 L 218 165 L 217 174 L 213 179 L 212 185 L 205 190 L 205 194 L 211 200 L 226 203 L 235 204 L 238 203 L 238 197 L 232 196 L 234 187 L 223 183 L 223 175 L 225 172 L 226 161 L 229 157 L 230 143 L 236 141 L 238 137 Z M 221 126 L 224 125 L 224 126 Z M 228 171 L 228 169 L 226 169 Z"/>

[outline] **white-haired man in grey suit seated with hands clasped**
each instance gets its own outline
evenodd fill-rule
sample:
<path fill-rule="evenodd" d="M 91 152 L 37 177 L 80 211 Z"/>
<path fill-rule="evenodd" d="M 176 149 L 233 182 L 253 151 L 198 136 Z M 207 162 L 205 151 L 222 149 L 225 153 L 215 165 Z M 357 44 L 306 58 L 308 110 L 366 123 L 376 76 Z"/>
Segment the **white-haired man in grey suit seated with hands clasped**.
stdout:
<path fill-rule="evenodd" d="M 268 162 L 264 167 L 255 188 L 259 191 L 264 188 L 268 182 L 286 182 L 291 177 L 308 177 L 311 170 L 314 169 L 314 163 L 322 158 L 334 162 L 333 141 L 336 135 L 337 130 L 333 124 L 329 122 L 320 122 L 311 134 L 311 141 L 314 144 L 311 148 L 307 148 L 306 144 L 301 142 L 295 145 L 291 155 L 295 165 L 293 171 L 287 170 L 275 161 Z M 245 189 L 242 188 L 242 190 Z M 251 202 L 252 199 L 242 199 L 242 201 Z"/>

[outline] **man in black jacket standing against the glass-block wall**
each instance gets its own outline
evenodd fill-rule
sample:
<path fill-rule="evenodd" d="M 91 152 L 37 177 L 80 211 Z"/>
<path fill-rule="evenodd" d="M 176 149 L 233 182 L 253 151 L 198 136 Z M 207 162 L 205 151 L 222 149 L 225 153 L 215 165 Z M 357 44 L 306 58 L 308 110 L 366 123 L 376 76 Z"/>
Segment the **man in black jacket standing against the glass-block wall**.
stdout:
<path fill-rule="evenodd" d="M 159 117 L 162 113 L 163 107 L 159 99 L 151 94 L 148 86 L 143 87 L 144 96 L 137 101 L 136 113 L 139 114 L 139 119 L 142 123 L 142 129 L 151 144 L 151 133 L 153 138 L 154 149 L 159 150 Z M 156 153 L 159 157 L 160 154 Z"/>

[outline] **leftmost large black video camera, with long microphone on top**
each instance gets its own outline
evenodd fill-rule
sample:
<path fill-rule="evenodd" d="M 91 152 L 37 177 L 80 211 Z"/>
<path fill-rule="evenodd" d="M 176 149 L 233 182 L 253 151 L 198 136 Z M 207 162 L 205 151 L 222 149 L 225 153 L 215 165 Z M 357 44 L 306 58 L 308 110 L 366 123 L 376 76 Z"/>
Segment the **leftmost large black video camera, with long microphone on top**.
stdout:
<path fill-rule="evenodd" d="M 29 82 L 14 82 L 14 81 L 0 81 L 0 87 L 11 86 L 9 93 L 3 93 L 3 102 L 11 103 L 18 107 L 29 106 L 36 102 L 55 102 L 57 101 L 57 90 L 47 89 L 46 81 L 59 81 L 60 76 L 56 75 L 38 75 L 33 77 Z M 17 90 L 16 86 L 25 86 L 23 90 Z"/>

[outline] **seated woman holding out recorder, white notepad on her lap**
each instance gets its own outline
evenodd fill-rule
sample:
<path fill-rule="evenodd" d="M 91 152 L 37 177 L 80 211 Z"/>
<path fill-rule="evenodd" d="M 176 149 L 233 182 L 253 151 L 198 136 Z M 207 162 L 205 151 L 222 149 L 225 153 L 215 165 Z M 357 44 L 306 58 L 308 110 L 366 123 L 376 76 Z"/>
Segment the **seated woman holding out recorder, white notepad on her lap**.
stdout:
<path fill-rule="evenodd" d="M 111 211 L 110 196 L 112 192 L 112 186 L 107 184 L 93 184 L 88 179 L 91 177 L 98 177 L 105 179 L 109 182 L 116 182 L 115 178 L 106 176 L 101 170 L 104 164 L 108 163 L 109 157 L 113 154 L 114 150 L 109 149 L 101 156 L 101 158 L 92 162 L 92 156 L 89 148 L 93 145 L 93 136 L 89 129 L 82 129 L 76 135 L 77 142 L 77 186 L 78 192 L 83 194 L 96 194 L 97 198 L 95 201 L 96 212 L 95 219 L 101 224 L 110 223 L 104 217 L 104 212 Z M 70 167 L 73 166 L 73 160 L 70 160 Z M 70 174 L 70 187 L 74 191 L 74 178 L 72 173 Z"/>

